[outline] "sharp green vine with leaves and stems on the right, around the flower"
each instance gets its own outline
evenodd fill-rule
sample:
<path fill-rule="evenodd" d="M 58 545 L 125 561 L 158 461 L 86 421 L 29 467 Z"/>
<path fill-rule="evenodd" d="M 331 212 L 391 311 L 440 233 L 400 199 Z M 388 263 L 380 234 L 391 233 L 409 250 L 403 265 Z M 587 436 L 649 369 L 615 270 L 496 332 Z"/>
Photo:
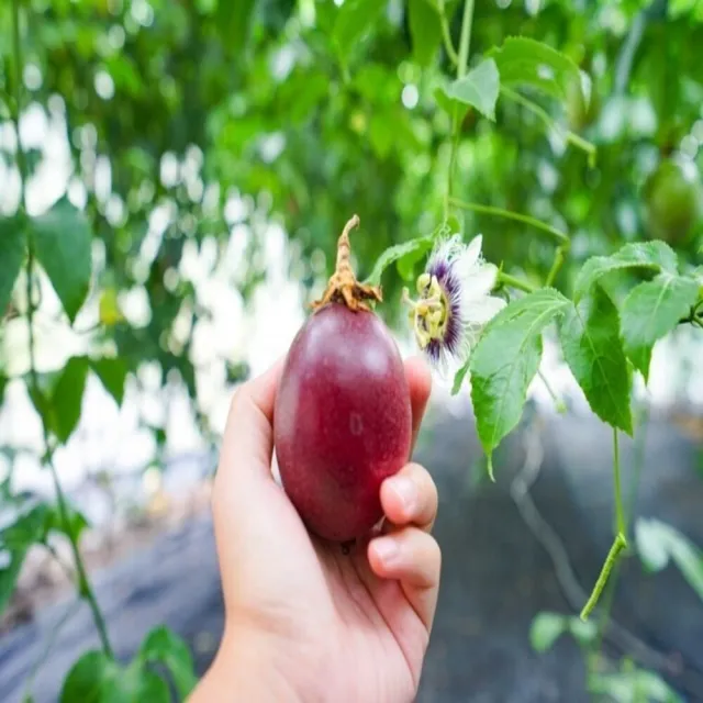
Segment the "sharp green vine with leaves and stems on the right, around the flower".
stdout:
<path fill-rule="evenodd" d="M 584 86 L 590 86 L 590 80 L 566 56 L 524 37 L 506 40 L 502 47 L 491 49 L 476 68 L 468 71 L 473 2 L 467 0 L 464 3 L 458 52 L 454 48 L 448 32 L 445 3 L 438 1 L 436 10 L 440 19 L 443 45 L 449 60 L 456 66 L 456 80 L 444 89 L 451 101 L 451 147 L 444 196 L 444 227 L 439 227 L 437 232 L 448 225 L 450 209 L 454 207 L 523 223 L 546 233 L 557 243 L 554 260 L 543 286 L 534 286 L 516 278 L 505 272 L 501 266 L 499 283 L 526 294 L 511 300 L 489 322 L 469 362 L 457 372 L 453 392 L 458 392 L 465 378 L 470 375 L 477 428 L 492 477 L 492 451 L 518 423 L 533 377 L 538 375 L 542 378 L 557 402 L 548 380 L 539 371 L 542 334 L 547 325 L 557 323 L 567 364 L 591 409 L 612 426 L 613 434 L 615 536 L 592 593 L 581 610 L 581 620 L 587 621 L 596 606 L 611 572 L 628 547 L 621 486 L 618 431 L 633 433 L 631 369 L 634 367 L 647 380 L 651 349 L 658 339 L 671 332 L 679 322 L 703 326 L 698 313 L 703 303 L 703 286 L 696 280 L 695 271 L 680 272 L 674 252 L 665 243 L 631 244 L 611 257 L 596 256 L 588 260 L 577 278 L 573 299 L 570 300 L 553 288 L 570 249 L 568 234 L 531 215 L 467 202 L 454 196 L 460 110 L 475 109 L 493 120 L 495 103 L 501 96 L 528 110 L 548 129 L 556 129 L 563 135 L 567 144 L 587 154 L 588 164 L 592 167 L 595 164 L 595 147 L 571 131 L 557 127 L 546 110 L 516 89 L 520 85 L 529 85 L 553 96 L 566 96 L 570 85 L 577 85 L 580 90 L 588 92 Z M 548 66 L 549 72 L 543 70 L 545 66 Z M 504 75 L 501 75 L 502 68 L 505 69 Z M 546 78 L 547 75 L 550 77 Z M 589 94 L 584 96 L 584 100 L 588 101 L 589 98 Z M 387 250 L 375 268 L 376 279 L 380 279 L 386 267 L 410 253 L 414 255 L 412 242 Z M 628 271 L 649 274 L 650 278 L 632 288 L 623 301 L 614 300 L 602 288 L 602 283 Z"/>

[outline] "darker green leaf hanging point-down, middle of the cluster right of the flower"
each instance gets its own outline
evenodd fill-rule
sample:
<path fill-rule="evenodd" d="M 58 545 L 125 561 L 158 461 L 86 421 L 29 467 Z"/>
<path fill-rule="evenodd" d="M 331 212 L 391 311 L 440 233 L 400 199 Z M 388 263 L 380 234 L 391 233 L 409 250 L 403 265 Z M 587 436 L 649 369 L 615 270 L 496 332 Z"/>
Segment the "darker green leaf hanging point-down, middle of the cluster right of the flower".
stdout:
<path fill-rule="evenodd" d="M 617 309 L 600 287 L 570 304 L 559 325 L 563 356 L 591 410 L 632 435 L 631 376 L 620 338 Z"/>

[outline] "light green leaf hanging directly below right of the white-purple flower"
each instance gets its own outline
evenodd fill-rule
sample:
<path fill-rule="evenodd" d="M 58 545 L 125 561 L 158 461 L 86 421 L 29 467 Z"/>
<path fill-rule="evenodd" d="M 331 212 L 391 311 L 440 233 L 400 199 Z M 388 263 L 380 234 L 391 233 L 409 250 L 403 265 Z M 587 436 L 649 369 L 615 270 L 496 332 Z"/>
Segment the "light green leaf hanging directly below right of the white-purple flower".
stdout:
<path fill-rule="evenodd" d="M 569 306 L 545 288 L 510 303 L 486 327 L 469 365 L 479 438 L 489 456 L 520 422 L 542 358 L 542 332 Z"/>

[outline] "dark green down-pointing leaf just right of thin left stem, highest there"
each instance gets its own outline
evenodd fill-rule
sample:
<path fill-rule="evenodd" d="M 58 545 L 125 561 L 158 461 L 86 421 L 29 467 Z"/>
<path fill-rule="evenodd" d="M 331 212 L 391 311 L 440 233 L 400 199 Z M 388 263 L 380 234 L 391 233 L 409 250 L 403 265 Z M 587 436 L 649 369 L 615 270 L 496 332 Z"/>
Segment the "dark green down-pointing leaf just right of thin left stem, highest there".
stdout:
<path fill-rule="evenodd" d="M 34 252 L 71 324 L 88 295 L 91 233 L 86 216 L 66 199 L 30 220 Z"/>

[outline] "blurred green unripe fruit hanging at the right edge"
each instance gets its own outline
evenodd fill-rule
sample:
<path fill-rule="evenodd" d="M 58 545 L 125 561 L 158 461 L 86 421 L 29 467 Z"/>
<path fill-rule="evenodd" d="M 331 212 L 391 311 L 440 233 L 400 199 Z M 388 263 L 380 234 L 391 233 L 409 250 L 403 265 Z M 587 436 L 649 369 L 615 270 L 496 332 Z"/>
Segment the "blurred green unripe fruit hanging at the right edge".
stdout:
<path fill-rule="evenodd" d="M 685 243 L 701 214 L 701 187 L 671 158 L 662 160 L 644 186 L 647 226 L 674 246 Z"/>

